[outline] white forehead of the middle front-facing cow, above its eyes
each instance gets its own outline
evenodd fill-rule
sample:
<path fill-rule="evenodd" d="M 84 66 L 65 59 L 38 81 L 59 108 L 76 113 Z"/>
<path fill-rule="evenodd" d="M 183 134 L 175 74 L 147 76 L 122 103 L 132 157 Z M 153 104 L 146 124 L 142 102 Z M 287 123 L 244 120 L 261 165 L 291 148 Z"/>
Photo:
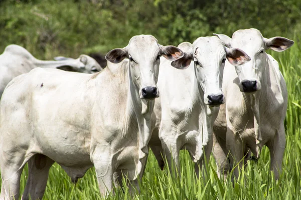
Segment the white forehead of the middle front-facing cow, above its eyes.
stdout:
<path fill-rule="evenodd" d="M 217 36 L 207 36 L 199 37 L 193 42 L 193 51 L 195 56 L 221 55 L 225 53 L 225 48 L 222 40 Z"/>

